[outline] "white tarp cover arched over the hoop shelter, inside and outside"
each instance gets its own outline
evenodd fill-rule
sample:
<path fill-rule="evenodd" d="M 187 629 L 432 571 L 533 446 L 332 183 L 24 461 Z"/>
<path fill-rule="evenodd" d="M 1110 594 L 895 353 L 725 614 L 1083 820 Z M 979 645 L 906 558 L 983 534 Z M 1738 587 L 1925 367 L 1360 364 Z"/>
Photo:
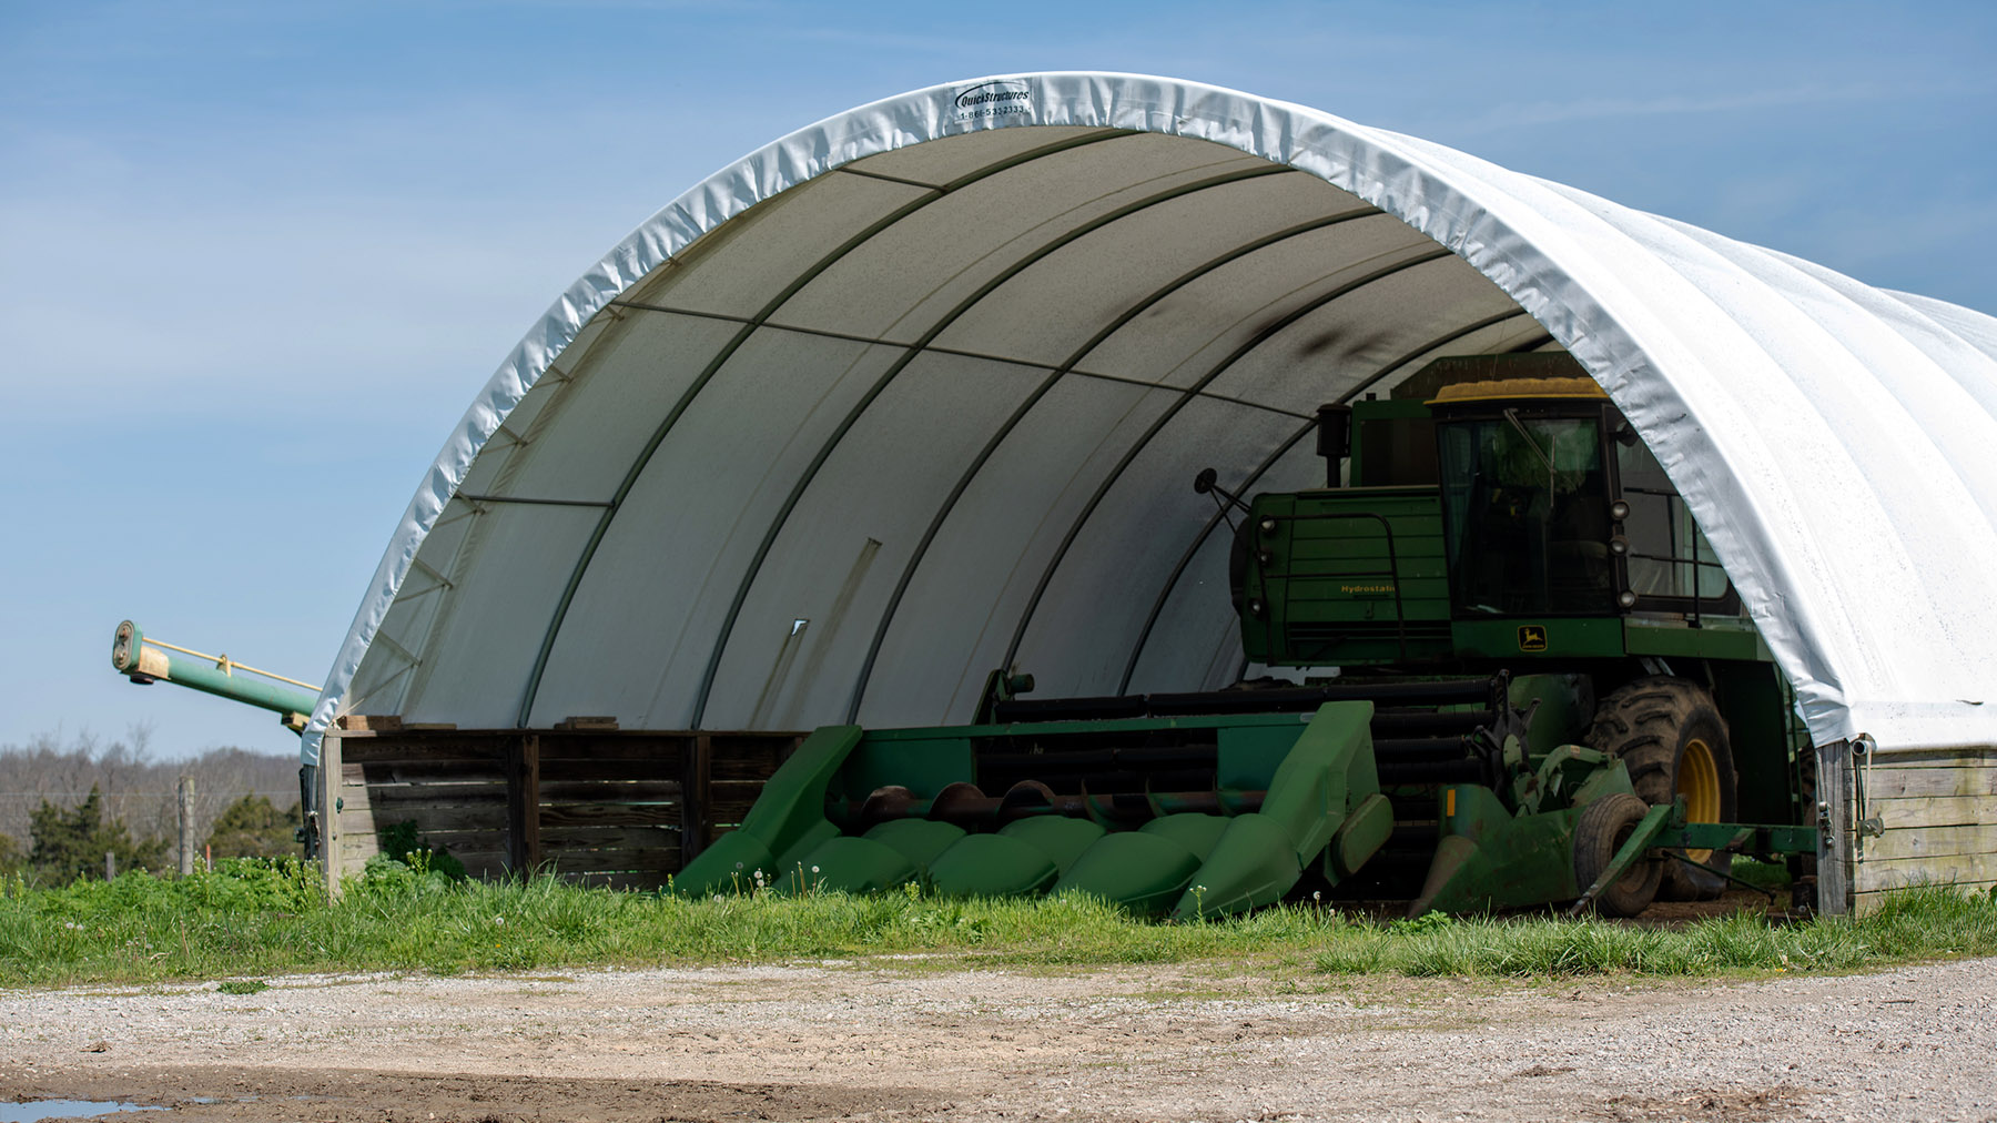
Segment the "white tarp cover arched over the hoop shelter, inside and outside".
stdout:
<path fill-rule="evenodd" d="M 1819 743 L 1997 743 L 1997 320 L 1304 106 L 1026 74 L 777 140 L 583 274 L 409 502 L 304 759 L 349 711 L 1224 685 L 1194 474 L 1310 486 L 1320 402 L 1526 350 L 1636 424 Z"/>

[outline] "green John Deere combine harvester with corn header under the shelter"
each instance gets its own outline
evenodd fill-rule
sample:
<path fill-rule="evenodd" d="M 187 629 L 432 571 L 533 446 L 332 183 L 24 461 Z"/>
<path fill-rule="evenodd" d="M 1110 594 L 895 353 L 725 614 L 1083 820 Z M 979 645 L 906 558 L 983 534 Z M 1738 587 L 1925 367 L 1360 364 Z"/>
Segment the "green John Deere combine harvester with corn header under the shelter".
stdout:
<path fill-rule="evenodd" d="M 1807 889 L 1787 683 L 1570 356 L 1438 360 L 1320 410 L 1318 450 L 1322 490 L 1194 482 L 1236 524 L 1244 653 L 1288 677 L 1034 699 L 1006 669 L 973 725 L 817 729 L 677 887 L 1636 915 L 1717 897 L 1751 853 Z"/>

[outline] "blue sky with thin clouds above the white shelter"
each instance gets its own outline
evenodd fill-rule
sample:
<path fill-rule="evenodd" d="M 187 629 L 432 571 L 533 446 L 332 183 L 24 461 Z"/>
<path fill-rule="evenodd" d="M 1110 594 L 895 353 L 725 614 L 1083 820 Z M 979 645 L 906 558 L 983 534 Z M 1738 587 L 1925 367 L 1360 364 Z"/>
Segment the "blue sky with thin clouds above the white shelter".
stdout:
<path fill-rule="evenodd" d="M 118 619 L 318 679 L 447 430 L 653 210 L 1018 70 L 1302 102 L 1997 314 L 1989 4 L 0 0 L 0 745 L 292 751 Z"/>

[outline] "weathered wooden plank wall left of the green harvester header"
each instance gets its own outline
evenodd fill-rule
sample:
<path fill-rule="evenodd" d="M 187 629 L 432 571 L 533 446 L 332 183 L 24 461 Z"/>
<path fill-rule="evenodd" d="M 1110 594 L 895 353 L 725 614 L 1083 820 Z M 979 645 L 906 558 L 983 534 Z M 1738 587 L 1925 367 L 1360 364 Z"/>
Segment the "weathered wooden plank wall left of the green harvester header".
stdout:
<path fill-rule="evenodd" d="M 322 745 L 322 869 L 337 891 L 411 823 L 471 877 L 549 871 L 655 889 L 735 829 L 801 733 L 337 729 Z"/>

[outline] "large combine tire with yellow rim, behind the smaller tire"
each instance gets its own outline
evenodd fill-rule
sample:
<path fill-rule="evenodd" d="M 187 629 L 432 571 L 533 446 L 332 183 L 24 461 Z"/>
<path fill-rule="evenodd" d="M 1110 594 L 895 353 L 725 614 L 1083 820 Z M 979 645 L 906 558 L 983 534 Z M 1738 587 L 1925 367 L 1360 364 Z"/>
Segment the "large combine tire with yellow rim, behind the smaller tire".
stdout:
<path fill-rule="evenodd" d="M 1624 761 L 1646 803 L 1683 795 L 1687 821 L 1737 819 L 1733 747 L 1705 687 L 1664 675 L 1636 679 L 1602 699 L 1588 743 Z M 1699 865 L 1667 859 L 1662 899 L 1711 901 L 1727 887 L 1731 853 L 1693 849 L 1685 857 Z"/>

